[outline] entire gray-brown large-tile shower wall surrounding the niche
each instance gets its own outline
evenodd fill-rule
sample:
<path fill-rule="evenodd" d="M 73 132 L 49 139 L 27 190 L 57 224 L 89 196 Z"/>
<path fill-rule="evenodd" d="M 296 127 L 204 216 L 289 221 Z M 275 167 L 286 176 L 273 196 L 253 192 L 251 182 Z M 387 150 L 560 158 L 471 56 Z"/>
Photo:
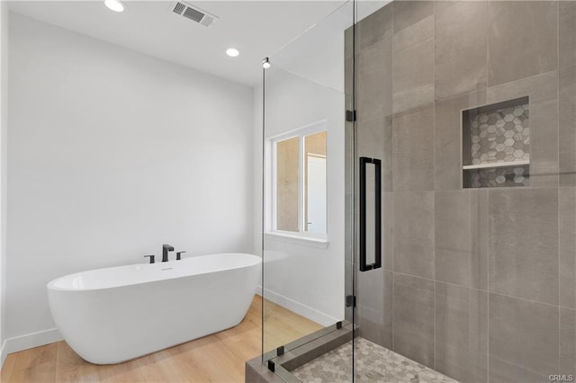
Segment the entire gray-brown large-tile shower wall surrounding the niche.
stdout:
<path fill-rule="evenodd" d="M 395 0 L 356 32 L 384 183 L 360 334 L 464 382 L 576 375 L 576 2 Z M 525 96 L 530 183 L 463 190 L 461 111 Z"/>

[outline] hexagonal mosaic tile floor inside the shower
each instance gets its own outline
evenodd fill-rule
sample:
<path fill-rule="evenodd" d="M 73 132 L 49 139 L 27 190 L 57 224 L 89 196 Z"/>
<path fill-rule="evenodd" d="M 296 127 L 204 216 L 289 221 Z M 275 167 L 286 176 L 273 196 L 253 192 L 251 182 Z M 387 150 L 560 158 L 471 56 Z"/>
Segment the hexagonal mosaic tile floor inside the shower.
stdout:
<path fill-rule="evenodd" d="M 304 383 L 350 382 L 352 380 L 351 353 L 352 342 L 348 342 L 302 365 L 292 373 Z M 410 361 L 364 338 L 356 338 L 356 381 L 457 383 L 455 379 L 430 370 L 415 361 Z"/>

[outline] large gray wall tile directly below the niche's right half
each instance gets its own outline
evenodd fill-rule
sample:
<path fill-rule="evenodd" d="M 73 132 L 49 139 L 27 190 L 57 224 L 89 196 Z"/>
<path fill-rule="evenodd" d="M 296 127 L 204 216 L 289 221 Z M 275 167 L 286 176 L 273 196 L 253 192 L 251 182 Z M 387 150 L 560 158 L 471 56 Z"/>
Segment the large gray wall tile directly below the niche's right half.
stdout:
<path fill-rule="evenodd" d="M 558 306 L 558 190 L 489 192 L 491 292 Z"/>

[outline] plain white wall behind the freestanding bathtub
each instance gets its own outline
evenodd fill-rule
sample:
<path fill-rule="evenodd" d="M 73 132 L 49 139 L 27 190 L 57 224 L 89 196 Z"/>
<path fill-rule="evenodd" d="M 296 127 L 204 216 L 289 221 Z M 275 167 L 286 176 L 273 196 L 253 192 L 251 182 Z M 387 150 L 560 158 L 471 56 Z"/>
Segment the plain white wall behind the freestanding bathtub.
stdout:
<path fill-rule="evenodd" d="M 10 16 L 10 352 L 58 338 L 53 278 L 252 251 L 251 88 Z"/>

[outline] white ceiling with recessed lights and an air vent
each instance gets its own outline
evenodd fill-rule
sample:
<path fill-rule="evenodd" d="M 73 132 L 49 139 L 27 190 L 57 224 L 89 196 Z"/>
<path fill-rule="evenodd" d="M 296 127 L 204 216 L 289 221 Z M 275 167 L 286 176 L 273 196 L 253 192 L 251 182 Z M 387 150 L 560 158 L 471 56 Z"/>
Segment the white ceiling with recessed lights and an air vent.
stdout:
<path fill-rule="evenodd" d="M 344 1 L 189 1 L 220 20 L 210 27 L 170 12 L 169 1 L 124 2 L 114 13 L 103 1 L 11 1 L 34 19 L 84 33 L 243 85 L 259 84 L 262 58 L 302 34 Z M 238 58 L 225 50 L 234 47 Z"/>

